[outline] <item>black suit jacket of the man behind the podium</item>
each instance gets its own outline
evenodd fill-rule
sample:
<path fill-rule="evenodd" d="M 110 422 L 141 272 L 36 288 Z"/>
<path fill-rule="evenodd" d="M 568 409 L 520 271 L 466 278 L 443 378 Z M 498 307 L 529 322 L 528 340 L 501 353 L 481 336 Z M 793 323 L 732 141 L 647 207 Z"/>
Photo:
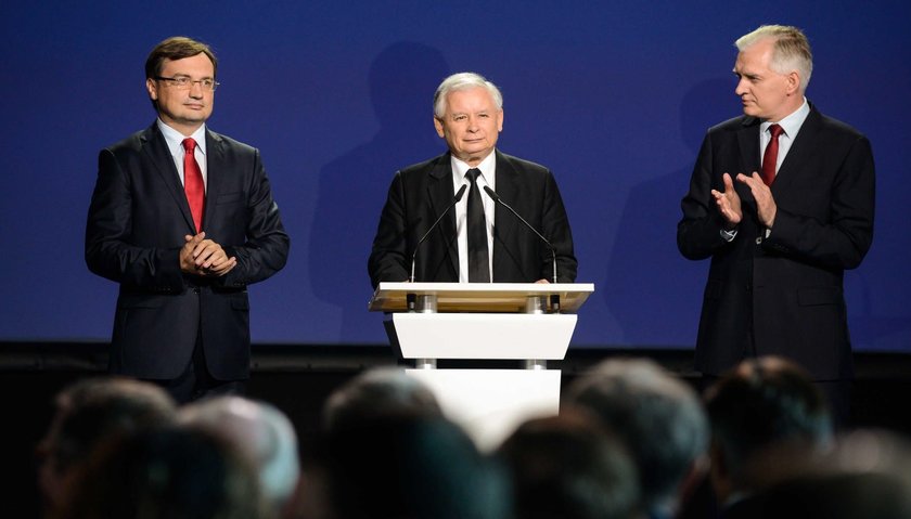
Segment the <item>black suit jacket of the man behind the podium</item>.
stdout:
<path fill-rule="evenodd" d="M 497 194 L 548 238 L 556 250 L 557 281 L 572 283 L 576 280 L 577 268 L 573 235 L 553 174 L 543 166 L 499 151 L 496 154 Z M 400 282 L 410 277 L 418 241 L 454 196 L 449 153 L 396 173 L 368 261 L 374 287 L 382 281 Z M 553 260 L 547 245 L 500 205 L 497 205 L 493 219 L 493 281 L 552 280 Z M 414 280 L 459 281 L 454 209 L 444 217 L 418 250 Z"/>

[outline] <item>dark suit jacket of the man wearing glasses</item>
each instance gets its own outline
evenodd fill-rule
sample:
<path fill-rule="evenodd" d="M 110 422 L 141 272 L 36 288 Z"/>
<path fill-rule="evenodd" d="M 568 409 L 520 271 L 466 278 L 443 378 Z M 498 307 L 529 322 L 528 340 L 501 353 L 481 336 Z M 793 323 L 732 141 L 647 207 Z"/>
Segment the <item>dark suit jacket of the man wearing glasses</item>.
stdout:
<path fill-rule="evenodd" d="M 156 125 L 102 150 L 86 226 L 86 262 L 120 284 L 111 351 L 114 373 L 170 379 L 197 335 L 209 373 L 249 372 L 246 286 L 284 267 L 288 237 L 259 152 L 206 132 L 203 230 L 238 264 L 221 277 L 180 271 L 183 236 L 195 234 L 177 169 Z"/>

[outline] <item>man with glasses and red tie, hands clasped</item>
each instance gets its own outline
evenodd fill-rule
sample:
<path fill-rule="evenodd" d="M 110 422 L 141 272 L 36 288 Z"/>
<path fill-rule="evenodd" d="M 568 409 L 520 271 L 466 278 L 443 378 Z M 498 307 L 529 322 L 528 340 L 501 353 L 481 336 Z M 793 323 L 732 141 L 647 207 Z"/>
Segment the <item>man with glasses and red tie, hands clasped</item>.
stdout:
<path fill-rule="evenodd" d="M 183 37 L 145 63 L 158 118 L 99 155 L 86 262 L 120 284 L 110 368 L 180 402 L 240 392 L 249 376 L 246 287 L 287 259 L 259 152 L 209 131 L 209 48 Z"/>

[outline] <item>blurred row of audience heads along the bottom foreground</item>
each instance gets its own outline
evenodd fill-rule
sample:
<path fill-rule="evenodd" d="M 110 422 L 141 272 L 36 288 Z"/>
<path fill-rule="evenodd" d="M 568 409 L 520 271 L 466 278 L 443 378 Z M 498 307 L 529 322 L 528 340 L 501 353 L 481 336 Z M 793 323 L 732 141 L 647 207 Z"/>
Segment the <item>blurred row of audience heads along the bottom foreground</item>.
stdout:
<path fill-rule="evenodd" d="M 911 447 L 838 430 L 795 364 L 745 361 L 700 394 L 645 359 L 564 388 L 557 416 L 482 452 L 403 369 L 326 400 L 298 450 L 281 410 L 182 406 L 127 378 L 79 380 L 38 445 L 47 518 L 911 518 Z M 309 441 L 309 440 L 308 440 Z"/>

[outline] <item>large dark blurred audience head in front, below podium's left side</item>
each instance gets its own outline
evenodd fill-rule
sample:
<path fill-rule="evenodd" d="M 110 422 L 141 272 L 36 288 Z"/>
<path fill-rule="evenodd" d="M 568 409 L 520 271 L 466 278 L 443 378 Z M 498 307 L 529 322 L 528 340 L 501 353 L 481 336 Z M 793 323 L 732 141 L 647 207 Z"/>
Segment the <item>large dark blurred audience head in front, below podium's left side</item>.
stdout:
<path fill-rule="evenodd" d="M 334 428 L 318 455 L 329 510 L 320 517 L 512 517 L 505 471 L 444 417 L 385 415 Z"/>

